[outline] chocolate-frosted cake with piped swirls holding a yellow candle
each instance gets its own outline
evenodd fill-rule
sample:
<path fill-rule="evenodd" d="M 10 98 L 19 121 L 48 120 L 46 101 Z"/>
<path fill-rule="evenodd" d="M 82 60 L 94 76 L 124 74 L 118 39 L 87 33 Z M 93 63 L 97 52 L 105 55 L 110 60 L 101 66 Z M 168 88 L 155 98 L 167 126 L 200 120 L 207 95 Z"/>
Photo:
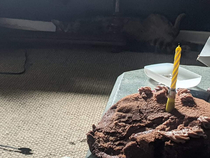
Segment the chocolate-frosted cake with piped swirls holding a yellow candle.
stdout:
<path fill-rule="evenodd" d="M 87 134 L 99 158 L 209 158 L 210 104 L 180 89 L 165 111 L 168 89 L 142 87 L 114 104 Z"/>

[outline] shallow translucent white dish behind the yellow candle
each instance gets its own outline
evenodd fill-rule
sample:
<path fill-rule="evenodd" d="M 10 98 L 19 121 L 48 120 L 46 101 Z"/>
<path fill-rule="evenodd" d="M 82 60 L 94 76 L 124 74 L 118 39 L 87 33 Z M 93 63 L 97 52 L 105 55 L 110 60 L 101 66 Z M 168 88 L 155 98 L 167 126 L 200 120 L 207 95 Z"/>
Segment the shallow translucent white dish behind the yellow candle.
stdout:
<path fill-rule="evenodd" d="M 172 63 L 153 64 L 144 67 L 145 74 L 151 79 L 171 86 L 171 76 L 173 72 Z M 201 81 L 201 76 L 189 71 L 185 68 L 179 67 L 176 88 L 191 88 L 197 86 Z"/>

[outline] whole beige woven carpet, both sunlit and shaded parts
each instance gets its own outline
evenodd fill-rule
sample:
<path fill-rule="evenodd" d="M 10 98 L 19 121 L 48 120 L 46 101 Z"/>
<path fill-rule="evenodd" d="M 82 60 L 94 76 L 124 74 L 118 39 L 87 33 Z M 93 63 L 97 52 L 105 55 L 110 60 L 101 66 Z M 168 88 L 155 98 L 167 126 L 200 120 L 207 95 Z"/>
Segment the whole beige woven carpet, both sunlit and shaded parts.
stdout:
<path fill-rule="evenodd" d="M 1 158 L 85 157 L 86 133 L 100 120 L 116 78 L 124 71 L 173 61 L 173 55 L 113 54 L 90 47 L 25 51 L 24 74 L 0 74 Z M 187 54 L 181 63 L 200 65 L 197 55 Z M 16 147 L 30 148 L 32 154 Z"/>

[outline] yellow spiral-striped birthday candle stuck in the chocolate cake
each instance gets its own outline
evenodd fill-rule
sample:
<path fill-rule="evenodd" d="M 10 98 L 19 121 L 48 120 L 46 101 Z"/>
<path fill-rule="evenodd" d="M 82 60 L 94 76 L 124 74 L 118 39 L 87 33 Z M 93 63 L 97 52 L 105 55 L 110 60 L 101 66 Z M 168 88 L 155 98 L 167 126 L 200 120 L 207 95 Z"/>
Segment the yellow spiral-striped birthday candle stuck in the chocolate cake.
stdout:
<path fill-rule="evenodd" d="M 174 105 L 175 105 L 176 82 L 177 82 L 177 76 L 178 76 L 178 71 L 179 71 L 181 51 L 182 51 L 182 49 L 178 45 L 178 47 L 176 47 L 175 56 L 174 56 L 174 65 L 173 65 L 173 72 L 172 72 L 172 79 L 171 79 L 171 89 L 170 89 L 168 100 L 166 103 L 166 111 L 167 112 L 171 112 L 174 109 Z"/>

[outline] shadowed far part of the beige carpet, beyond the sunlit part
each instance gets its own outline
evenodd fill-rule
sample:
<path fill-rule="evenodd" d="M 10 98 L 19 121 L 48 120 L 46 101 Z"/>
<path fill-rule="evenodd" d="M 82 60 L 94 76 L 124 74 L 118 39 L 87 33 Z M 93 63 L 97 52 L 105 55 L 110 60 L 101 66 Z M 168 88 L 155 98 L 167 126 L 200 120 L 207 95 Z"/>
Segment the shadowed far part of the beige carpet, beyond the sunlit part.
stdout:
<path fill-rule="evenodd" d="M 10 90 L 40 90 L 109 95 L 117 77 L 123 72 L 173 61 L 173 54 L 131 51 L 112 53 L 112 47 L 109 46 L 65 47 L 51 44 L 30 47 L 21 44 L 4 47 L 0 51 L 4 53 L 6 49 L 25 51 L 27 60 L 24 73 L 0 74 L 2 94 Z M 196 57 L 183 56 L 181 64 L 202 65 L 196 61 Z"/>

